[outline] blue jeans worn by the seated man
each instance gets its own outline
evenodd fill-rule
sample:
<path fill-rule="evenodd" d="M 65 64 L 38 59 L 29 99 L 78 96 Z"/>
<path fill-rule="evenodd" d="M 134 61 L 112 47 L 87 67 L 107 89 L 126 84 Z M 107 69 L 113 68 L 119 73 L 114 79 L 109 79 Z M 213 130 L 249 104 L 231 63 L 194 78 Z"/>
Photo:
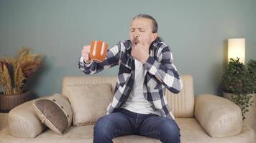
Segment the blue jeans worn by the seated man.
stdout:
<path fill-rule="evenodd" d="M 98 119 L 93 143 L 109 143 L 114 137 L 131 134 L 160 139 L 163 143 L 180 142 L 180 128 L 173 119 L 117 109 Z"/>

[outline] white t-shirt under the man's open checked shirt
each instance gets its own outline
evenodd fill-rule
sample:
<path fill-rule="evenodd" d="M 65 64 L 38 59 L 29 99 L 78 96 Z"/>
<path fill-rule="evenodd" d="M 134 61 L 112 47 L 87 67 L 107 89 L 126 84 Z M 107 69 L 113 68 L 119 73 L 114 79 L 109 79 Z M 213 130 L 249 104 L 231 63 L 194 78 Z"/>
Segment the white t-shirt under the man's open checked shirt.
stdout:
<path fill-rule="evenodd" d="M 150 107 L 150 102 L 143 95 L 144 69 L 142 63 L 135 59 L 135 78 L 132 87 L 132 92 L 129 95 L 127 102 L 122 105 L 122 108 L 139 114 L 155 114 Z"/>

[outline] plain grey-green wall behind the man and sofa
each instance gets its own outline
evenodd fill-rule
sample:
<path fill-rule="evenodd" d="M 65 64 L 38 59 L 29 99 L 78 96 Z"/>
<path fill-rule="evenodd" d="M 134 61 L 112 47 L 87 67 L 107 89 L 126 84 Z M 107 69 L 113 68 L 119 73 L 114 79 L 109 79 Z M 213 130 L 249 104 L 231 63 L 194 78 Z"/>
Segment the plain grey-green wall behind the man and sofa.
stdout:
<path fill-rule="evenodd" d="M 246 38 L 246 60 L 256 59 L 255 7 L 255 0 L 1 0 L 0 55 L 21 46 L 43 54 L 31 88 L 39 97 L 61 92 L 63 77 L 86 76 L 77 66 L 83 45 L 101 39 L 114 46 L 128 38 L 132 17 L 145 13 L 157 19 L 180 74 L 193 75 L 195 94 L 221 95 L 227 39 Z"/>

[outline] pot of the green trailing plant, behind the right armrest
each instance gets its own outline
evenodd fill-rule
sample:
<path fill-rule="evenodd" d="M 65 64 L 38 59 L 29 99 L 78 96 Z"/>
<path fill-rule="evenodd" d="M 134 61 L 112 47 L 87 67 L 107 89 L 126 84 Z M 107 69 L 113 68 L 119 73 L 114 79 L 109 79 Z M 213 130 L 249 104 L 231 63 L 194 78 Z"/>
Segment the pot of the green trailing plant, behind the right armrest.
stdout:
<path fill-rule="evenodd" d="M 223 92 L 224 98 L 234 102 L 234 100 L 232 99 L 232 95 L 234 94 Z M 250 95 L 252 95 L 252 100 L 254 102 L 252 103 L 252 107 L 249 106 L 248 108 L 249 112 L 246 112 L 244 114 L 245 119 L 243 121 L 243 124 L 252 127 L 252 129 L 254 129 L 256 132 L 256 121 L 255 121 L 256 120 L 256 94 L 250 94 Z"/>

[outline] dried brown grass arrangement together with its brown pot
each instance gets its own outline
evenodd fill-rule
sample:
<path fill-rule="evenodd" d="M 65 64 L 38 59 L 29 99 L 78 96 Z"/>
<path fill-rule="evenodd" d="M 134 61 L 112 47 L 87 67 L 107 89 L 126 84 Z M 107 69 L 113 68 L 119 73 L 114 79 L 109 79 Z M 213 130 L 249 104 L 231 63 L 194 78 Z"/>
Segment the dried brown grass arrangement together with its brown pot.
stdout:
<path fill-rule="evenodd" d="M 23 102 L 32 99 L 32 92 L 25 85 L 40 67 L 42 56 L 32 54 L 31 49 L 22 47 L 15 58 L 0 59 L 0 111 L 9 112 Z"/>

